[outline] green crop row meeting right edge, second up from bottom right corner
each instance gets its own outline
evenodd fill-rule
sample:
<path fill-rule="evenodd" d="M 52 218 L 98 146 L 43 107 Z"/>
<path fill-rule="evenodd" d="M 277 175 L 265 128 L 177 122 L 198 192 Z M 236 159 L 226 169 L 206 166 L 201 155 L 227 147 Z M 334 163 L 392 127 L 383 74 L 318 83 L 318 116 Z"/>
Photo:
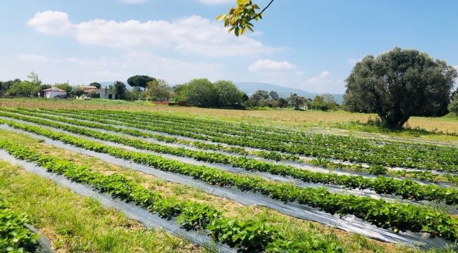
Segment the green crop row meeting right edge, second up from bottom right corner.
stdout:
<path fill-rule="evenodd" d="M 166 145 L 148 143 L 139 139 L 125 138 L 123 136 L 117 136 L 115 134 L 105 134 L 99 131 L 82 129 L 77 126 L 58 124 L 56 122 L 50 122 L 44 119 L 35 119 L 8 112 L 0 112 L 0 115 L 6 117 L 13 117 L 15 119 L 24 120 L 27 122 L 33 122 L 36 124 L 42 124 L 44 126 L 52 126 L 58 129 L 64 129 L 74 134 L 90 136 L 92 138 L 97 138 L 102 141 L 121 143 L 123 145 L 129 145 L 131 147 L 143 150 L 151 150 L 157 153 L 166 153 L 171 155 L 177 155 L 180 157 L 190 157 L 194 160 L 204 162 L 230 164 L 233 167 L 240 167 L 248 171 L 261 171 L 280 176 L 292 176 L 293 178 L 299 179 L 304 182 L 326 183 L 343 186 L 346 188 L 370 189 L 374 190 L 376 193 L 400 195 L 407 199 L 431 200 L 439 202 L 443 201 L 449 205 L 458 204 L 458 190 L 454 188 L 446 188 L 435 185 L 424 186 L 409 179 L 400 180 L 384 176 L 379 176 L 376 179 L 370 179 L 365 178 L 363 176 L 347 176 L 307 171 L 305 169 L 299 169 L 296 167 L 287 166 L 283 164 L 262 162 L 247 157 L 235 157 L 224 155 L 221 153 L 209 153 L 195 150 L 187 150 L 185 148 L 173 148 Z M 98 124 L 95 123 L 87 122 L 86 124 L 93 124 L 94 127 L 98 127 Z"/>

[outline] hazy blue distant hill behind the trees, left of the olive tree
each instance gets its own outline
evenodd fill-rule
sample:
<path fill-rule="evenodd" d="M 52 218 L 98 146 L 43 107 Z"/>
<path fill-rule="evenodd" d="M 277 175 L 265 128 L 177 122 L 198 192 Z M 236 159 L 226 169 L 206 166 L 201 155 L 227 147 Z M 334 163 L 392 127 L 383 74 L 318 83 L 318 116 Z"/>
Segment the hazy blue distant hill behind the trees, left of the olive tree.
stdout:
<path fill-rule="evenodd" d="M 321 95 L 321 93 L 313 93 L 309 91 L 303 91 L 301 89 L 287 88 L 283 86 L 278 86 L 274 84 L 264 84 L 259 82 L 235 82 L 238 89 L 247 93 L 247 95 L 252 95 L 257 90 L 264 91 L 277 91 L 278 95 L 283 98 L 287 98 L 291 93 L 297 93 L 299 96 L 304 96 L 306 98 L 313 99 L 316 95 Z M 342 94 L 332 94 L 337 103 L 342 104 Z"/>

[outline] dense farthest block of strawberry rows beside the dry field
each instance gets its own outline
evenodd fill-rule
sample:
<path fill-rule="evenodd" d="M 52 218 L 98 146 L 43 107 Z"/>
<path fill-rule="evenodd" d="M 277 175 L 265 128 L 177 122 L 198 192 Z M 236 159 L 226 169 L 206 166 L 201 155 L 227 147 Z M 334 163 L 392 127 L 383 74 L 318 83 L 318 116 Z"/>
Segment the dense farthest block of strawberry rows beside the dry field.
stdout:
<path fill-rule="evenodd" d="M 309 134 L 286 129 L 261 126 L 235 126 L 221 122 L 202 120 L 174 119 L 172 116 L 145 114 L 141 112 L 90 111 L 76 112 L 67 110 L 72 115 L 97 115 L 99 119 L 109 120 L 116 116 L 116 122 L 135 123 L 142 129 L 160 131 L 167 134 L 197 138 L 216 143 L 261 148 L 298 155 L 330 157 L 351 162 L 365 162 L 389 167 L 412 167 L 458 171 L 458 149 L 434 145 L 405 144 L 390 141 L 371 141 L 364 138 Z M 97 118 L 96 118 L 97 119 Z M 173 124 L 171 124 L 171 120 Z M 180 120 L 185 123 L 180 123 Z M 186 123 L 188 122 L 188 123 Z M 190 123 L 192 122 L 192 124 Z M 113 121 L 111 121 L 113 124 Z M 114 123 L 116 124 L 116 123 Z M 208 127 L 208 129 L 205 128 Z M 211 125 L 211 126 L 209 126 Z M 216 126 L 232 127 L 231 134 L 221 134 L 223 130 Z M 137 127 L 137 126 L 135 126 Z M 212 130 L 213 129 L 213 130 Z M 257 134 L 251 134 L 256 132 Z M 279 134 L 281 132 L 282 134 Z"/>

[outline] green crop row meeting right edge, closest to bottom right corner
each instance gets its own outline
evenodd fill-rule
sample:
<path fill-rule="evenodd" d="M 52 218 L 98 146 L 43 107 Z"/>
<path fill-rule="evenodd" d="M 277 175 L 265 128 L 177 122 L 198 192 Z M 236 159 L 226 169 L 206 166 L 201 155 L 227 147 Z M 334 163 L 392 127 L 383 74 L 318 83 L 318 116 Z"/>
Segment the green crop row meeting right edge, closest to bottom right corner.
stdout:
<path fill-rule="evenodd" d="M 330 193 L 325 188 L 301 188 L 290 183 L 276 183 L 259 179 L 256 176 L 232 174 L 210 167 L 186 164 L 156 155 L 115 148 L 6 119 L 0 119 L 0 123 L 57 139 L 87 150 L 106 153 L 139 164 L 147 164 L 163 171 L 192 176 L 194 179 L 213 185 L 252 190 L 276 200 L 299 202 L 331 214 L 353 214 L 376 226 L 392 228 L 394 231 L 421 231 L 450 240 L 456 239 L 458 235 L 458 220 L 431 207 L 387 202 L 385 200 L 375 200 L 371 197 Z"/>

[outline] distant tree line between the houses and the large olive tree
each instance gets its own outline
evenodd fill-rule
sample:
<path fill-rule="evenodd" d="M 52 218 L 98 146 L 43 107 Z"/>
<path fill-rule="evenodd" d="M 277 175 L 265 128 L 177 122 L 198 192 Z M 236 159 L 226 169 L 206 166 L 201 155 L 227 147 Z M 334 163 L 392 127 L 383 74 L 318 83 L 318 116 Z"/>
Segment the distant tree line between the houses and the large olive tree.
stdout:
<path fill-rule="evenodd" d="M 314 100 L 293 93 L 282 98 L 276 91 L 259 90 L 248 96 L 228 80 L 211 82 L 209 79 L 192 79 L 185 84 L 169 85 L 163 79 L 134 76 L 128 79 L 132 91 L 127 99 L 144 99 L 186 102 L 190 106 L 204 108 L 295 108 L 296 110 L 337 110 L 335 98 L 329 93 L 316 96 Z M 144 90 L 140 89 L 143 88 Z"/>

